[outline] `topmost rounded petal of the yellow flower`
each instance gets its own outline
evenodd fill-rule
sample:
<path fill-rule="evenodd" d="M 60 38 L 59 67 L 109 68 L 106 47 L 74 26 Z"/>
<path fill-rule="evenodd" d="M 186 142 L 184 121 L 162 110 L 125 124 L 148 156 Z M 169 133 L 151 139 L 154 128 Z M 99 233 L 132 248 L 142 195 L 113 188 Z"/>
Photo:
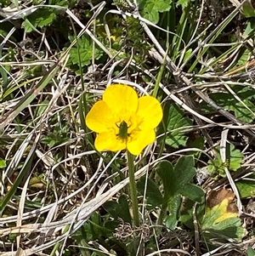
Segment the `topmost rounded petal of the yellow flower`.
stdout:
<path fill-rule="evenodd" d="M 103 100 L 111 112 L 121 118 L 119 121 L 128 119 L 132 113 L 137 111 L 138 95 L 133 88 L 124 84 L 113 84 L 106 88 Z"/>

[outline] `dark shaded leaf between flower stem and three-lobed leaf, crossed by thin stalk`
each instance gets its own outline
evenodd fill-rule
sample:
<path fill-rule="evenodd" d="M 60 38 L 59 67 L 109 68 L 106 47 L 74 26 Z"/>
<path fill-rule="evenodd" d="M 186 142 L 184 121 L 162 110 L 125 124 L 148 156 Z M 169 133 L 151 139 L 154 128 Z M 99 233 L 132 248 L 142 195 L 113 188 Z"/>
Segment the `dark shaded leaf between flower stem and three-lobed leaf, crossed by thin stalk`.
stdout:
<path fill-rule="evenodd" d="M 137 183 L 137 189 L 141 195 L 144 195 L 145 182 L 146 178 L 143 176 Z M 151 179 L 147 179 L 146 200 L 148 209 L 156 208 L 156 206 L 161 205 L 163 202 L 161 191 L 159 191 L 156 183 Z"/>

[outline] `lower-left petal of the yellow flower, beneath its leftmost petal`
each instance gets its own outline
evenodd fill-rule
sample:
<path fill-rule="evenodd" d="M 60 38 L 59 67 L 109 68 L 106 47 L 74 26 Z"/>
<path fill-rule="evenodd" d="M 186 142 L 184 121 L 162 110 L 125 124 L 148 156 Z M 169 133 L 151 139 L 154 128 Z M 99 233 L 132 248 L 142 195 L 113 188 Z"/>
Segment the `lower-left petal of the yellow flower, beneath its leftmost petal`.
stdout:
<path fill-rule="evenodd" d="M 97 151 L 122 151 L 126 148 L 126 142 L 118 139 L 114 129 L 97 135 L 94 141 Z"/>

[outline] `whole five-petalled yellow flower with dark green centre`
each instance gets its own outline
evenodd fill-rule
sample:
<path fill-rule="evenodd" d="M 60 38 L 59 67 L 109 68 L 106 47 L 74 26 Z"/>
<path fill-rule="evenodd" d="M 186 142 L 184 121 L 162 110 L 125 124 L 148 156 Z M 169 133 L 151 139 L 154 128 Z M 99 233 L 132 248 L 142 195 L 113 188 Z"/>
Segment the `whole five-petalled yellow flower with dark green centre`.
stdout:
<path fill-rule="evenodd" d="M 105 89 L 103 99 L 88 112 L 86 124 L 98 134 L 94 143 L 98 151 L 127 148 L 136 156 L 156 139 L 155 128 L 162 116 L 156 98 L 138 98 L 133 88 L 114 84 Z"/>

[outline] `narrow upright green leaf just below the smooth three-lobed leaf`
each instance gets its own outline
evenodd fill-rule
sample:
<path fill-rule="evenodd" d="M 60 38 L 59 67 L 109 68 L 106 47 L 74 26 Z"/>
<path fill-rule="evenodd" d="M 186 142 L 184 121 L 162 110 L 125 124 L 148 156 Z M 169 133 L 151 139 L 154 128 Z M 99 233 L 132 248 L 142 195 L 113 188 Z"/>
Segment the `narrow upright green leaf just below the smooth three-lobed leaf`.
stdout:
<path fill-rule="evenodd" d="M 175 230 L 177 224 L 178 224 L 178 216 L 179 211 L 181 207 L 182 198 L 180 195 L 173 196 L 168 202 L 167 202 L 167 211 L 169 214 L 164 219 L 165 225 L 170 230 Z"/>

